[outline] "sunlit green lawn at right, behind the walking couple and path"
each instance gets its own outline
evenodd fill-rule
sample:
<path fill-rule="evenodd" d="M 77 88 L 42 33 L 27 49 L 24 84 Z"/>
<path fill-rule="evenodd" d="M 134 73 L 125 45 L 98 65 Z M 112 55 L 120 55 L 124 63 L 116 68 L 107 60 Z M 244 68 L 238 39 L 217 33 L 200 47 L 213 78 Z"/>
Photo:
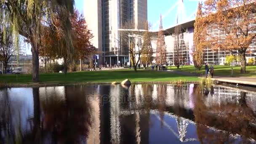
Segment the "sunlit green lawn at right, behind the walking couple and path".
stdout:
<path fill-rule="evenodd" d="M 233 68 L 233 74 L 234 76 L 237 77 L 256 77 L 256 66 L 246 66 L 246 73 L 245 74 L 240 74 L 240 67 L 232 67 Z M 177 69 L 177 67 L 168 67 L 168 69 L 172 69 L 172 70 L 182 70 L 182 71 L 186 71 L 186 72 L 196 72 L 196 73 L 202 73 L 204 74 L 205 70 L 204 70 L 204 66 L 202 67 L 202 69 L 200 71 L 195 71 L 195 67 L 194 66 L 183 66 L 183 68 L 181 69 L 181 67 L 179 69 Z M 231 67 L 229 66 L 223 66 L 223 65 L 214 65 L 214 75 L 216 76 L 230 76 L 231 75 Z"/>

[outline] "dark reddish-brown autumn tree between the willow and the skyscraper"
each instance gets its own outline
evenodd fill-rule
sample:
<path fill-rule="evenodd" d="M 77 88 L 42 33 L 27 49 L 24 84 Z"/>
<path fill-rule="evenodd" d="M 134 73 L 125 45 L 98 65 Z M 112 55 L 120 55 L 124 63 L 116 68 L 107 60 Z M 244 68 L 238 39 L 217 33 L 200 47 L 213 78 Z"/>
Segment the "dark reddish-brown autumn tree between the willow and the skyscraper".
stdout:
<path fill-rule="evenodd" d="M 80 14 L 77 10 L 70 16 L 70 22 L 72 27 L 72 40 L 74 45 L 74 52 L 70 55 L 70 52 L 65 48 L 65 40 L 61 35 L 63 30 L 62 25 L 58 21 L 58 15 L 56 15 L 56 21 L 53 25 L 45 27 L 45 34 L 43 36 L 42 44 L 40 47 L 40 56 L 43 57 L 45 62 L 47 59 L 63 58 L 64 60 L 64 73 L 67 73 L 67 63 L 78 60 L 87 59 L 94 52 L 94 49 L 90 46 L 93 35 L 91 30 L 88 29 L 83 14 Z M 56 41 L 59 41 L 56 49 Z M 82 66 L 81 66 L 82 67 Z"/>

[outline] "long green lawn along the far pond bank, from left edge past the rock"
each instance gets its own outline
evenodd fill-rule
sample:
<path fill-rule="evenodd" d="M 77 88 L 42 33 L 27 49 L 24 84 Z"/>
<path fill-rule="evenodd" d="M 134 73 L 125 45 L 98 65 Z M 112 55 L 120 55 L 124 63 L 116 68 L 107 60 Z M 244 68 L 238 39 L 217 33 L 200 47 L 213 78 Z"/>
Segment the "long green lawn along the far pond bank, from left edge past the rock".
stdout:
<path fill-rule="evenodd" d="M 63 73 L 40 74 L 40 83 L 83 83 L 83 82 L 121 82 L 128 78 L 132 82 L 168 82 L 174 80 L 198 81 L 197 77 L 175 75 L 164 71 L 150 71 L 140 69 L 120 69 L 112 71 L 86 71 Z M 25 75 L 0 75 L 2 83 L 31 84 L 32 76 Z"/>

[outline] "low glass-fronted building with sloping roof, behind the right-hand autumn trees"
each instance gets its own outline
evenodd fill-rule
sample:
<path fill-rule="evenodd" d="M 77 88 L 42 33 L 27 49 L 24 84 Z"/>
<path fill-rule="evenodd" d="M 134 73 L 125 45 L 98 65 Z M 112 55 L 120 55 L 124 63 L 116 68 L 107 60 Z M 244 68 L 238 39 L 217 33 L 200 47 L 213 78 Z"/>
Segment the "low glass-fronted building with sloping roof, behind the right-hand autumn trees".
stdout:
<path fill-rule="evenodd" d="M 179 48 L 180 63 L 183 65 L 193 65 L 192 53 L 195 49 L 193 36 L 194 36 L 194 23 L 195 20 L 187 21 L 181 24 L 182 29 L 182 39 Z M 251 24 L 251 27 L 255 27 L 256 24 Z M 168 64 L 173 64 L 175 59 L 176 49 L 175 49 L 175 37 L 173 37 L 175 26 L 164 30 L 165 44 L 166 44 L 166 61 Z M 153 32 L 155 37 L 158 32 Z M 218 35 L 223 37 L 224 33 L 219 29 L 208 29 L 208 34 Z M 153 57 L 154 61 L 156 59 L 156 40 L 152 42 L 153 47 Z M 226 63 L 226 56 L 230 54 L 238 55 L 238 51 L 213 51 L 211 47 L 205 48 L 203 51 L 203 61 L 210 64 L 220 64 L 224 65 Z M 252 43 L 247 50 L 246 60 L 249 58 L 254 59 L 254 64 L 256 64 L 256 43 Z"/>

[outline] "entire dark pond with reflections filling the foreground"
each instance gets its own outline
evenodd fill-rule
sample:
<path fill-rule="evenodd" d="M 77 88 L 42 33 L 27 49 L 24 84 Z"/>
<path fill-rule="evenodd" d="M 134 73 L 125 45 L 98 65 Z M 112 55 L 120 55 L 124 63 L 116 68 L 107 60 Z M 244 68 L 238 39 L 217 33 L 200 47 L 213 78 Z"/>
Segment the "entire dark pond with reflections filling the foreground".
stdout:
<path fill-rule="evenodd" d="M 0 144 L 255 143 L 256 93 L 215 85 L 0 89 Z"/>

